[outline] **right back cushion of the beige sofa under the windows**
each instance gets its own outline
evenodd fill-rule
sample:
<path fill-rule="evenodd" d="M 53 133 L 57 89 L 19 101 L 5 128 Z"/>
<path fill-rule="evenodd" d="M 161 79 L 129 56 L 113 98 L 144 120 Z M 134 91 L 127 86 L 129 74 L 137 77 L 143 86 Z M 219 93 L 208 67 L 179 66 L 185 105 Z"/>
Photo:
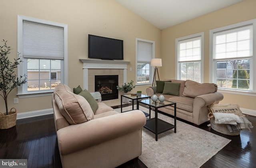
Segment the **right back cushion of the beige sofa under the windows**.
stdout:
<path fill-rule="evenodd" d="M 203 94 L 214 93 L 217 91 L 217 88 L 218 86 L 213 83 L 200 84 L 192 80 L 186 80 L 182 96 L 195 98 Z"/>

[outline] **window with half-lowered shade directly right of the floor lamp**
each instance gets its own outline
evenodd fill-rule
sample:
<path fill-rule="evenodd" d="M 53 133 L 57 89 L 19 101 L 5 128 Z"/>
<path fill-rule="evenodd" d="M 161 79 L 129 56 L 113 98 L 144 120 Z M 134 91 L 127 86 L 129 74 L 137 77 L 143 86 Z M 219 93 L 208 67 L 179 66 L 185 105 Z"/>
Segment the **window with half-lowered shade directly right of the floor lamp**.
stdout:
<path fill-rule="evenodd" d="M 176 39 L 176 76 L 179 80 L 203 81 L 204 33 Z"/>

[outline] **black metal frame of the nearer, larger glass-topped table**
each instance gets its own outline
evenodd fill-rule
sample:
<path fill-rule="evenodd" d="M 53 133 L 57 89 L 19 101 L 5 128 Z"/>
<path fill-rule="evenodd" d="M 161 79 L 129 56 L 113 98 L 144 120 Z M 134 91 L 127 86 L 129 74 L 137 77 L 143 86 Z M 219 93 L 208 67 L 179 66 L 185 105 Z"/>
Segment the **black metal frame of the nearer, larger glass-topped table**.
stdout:
<path fill-rule="evenodd" d="M 152 100 L 150 99 L 150 101 L 152 101 Z M 166 101 L 166 102 L 169 102 L 169 101 Z M 171 130 L 173 128 L 174 128 L 174 133 L 176 133 L 176 103 L 175 102 L 170 102 L 170 104 L 163 104 L 162 106 L 154 106 L 154 105 L 148 104 L 146 102 L 142 102 L 142 100 L 139 100 L 139 101 L 137 101 L 137 108 L 139 106 L 139 103 L 149 106 L 149 117 L 150 118 L 147 119 L 147 123 L 144 127 L 156 135 L 156 141 L 158 141 L 158 134 L 161 134 L 161 133 Z M 172 106 L 172 105 L 174 105 L 174 125 L 158 118 L 158 108 L 162 108 L 165 106 Z M 151 118 L 151 108 L 155 109 L 155 118 Z M 162 128 L 161 128 L 161 130 L 158 130 L 158 127 L 160 124 L 161 124 Z"/>

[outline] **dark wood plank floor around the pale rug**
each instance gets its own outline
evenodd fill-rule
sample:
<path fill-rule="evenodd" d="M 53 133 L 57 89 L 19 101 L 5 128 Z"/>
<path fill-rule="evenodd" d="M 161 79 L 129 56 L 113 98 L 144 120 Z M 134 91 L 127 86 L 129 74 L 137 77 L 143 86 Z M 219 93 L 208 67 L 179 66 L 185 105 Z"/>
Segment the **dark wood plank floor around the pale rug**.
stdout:
<path fill-rule="evenodd" d="M 247 118 L 255 127 L 256 118 L 252 116 Z M 207 124 L 209 123 L 204 123 L 199 128 L 232 141 L 202 168 L 256 167 L 256 128 L 252 128 L 252 132 L 241 131 L 239 136 L 226 136 L 215 132 Z M 16 126 L 0 130 L 0 158 L 28 159 L 28 168 L 61 168 L 53 115 L 17 120 Z M 132 160 L 119 168 L 146 168 L 146 166 L 140 160 Z"/>

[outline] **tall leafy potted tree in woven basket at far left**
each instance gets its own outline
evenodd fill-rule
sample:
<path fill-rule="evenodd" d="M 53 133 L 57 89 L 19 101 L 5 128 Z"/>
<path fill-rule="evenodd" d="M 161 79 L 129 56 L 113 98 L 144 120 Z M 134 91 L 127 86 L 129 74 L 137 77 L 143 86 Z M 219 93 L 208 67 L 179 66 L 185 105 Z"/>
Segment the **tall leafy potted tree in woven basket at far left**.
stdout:
<path fill-rule="evenodd" d="M 14 62 L 11 62 L 8 58 L 11 48 L 6 45 L 5 40 L 3 40 L 4 45 L 0 46 L 0 96 L 4 99 L 6 112 L 0 112 L 0 129 L 11 128 L 16 125 L 16 116 L 17 112 L 13 112 L 12 109 L 8 112 L 8 94 L 18 86 L 21 86 L 26 83 L 26 76 L 16 77 L 14 69 L 17 68 L 18 64 L 22 62 L 20 58 L 15 59 Z"/>

